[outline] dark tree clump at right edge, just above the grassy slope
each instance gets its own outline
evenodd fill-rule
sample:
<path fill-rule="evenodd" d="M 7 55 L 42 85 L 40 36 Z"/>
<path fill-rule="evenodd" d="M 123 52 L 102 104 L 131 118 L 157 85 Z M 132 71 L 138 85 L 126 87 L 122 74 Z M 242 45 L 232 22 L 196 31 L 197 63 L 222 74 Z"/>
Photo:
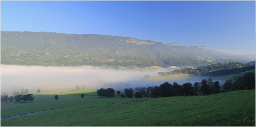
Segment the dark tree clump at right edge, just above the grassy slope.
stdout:
<path fill-rule="evenodd" d="M 226 80 L 223 84 L 223 92 L 244 90 L 244 89 L 255 89 L 255 73 L 249 72 L 236 78 L 233 82 L 231 79 Z"/>

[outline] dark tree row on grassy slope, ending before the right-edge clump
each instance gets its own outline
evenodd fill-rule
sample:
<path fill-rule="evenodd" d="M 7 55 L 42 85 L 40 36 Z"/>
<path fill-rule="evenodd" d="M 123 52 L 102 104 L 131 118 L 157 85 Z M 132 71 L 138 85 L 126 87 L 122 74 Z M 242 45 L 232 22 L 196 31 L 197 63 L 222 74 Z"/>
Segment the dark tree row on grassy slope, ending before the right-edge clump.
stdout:
<path fill-rule="evenodd" d="M 220 92 L 220 83 L 218 81 L 213 82 L 211 78 L 203 79 L 200 83 L 196 82 L 184 83 L 179 85 L 174 82 L 169 84 L 165 82 L 160 86 L 155 86 L 150 91 L 151 97 L 169 97 L 169 96 L 192 96 L 192 95 L 210 95 Z"/>

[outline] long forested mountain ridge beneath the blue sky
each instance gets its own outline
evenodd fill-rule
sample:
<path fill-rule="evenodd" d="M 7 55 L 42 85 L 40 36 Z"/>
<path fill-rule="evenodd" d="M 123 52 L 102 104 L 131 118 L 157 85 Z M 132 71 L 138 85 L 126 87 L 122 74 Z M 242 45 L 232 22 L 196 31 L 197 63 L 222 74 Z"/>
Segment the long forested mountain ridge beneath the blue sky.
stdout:
<path fill-rule="evenodd" d="M 198 67 L 247 62 L 204 46 L 187 47 L 109 35 L 1 32 L 1 64 Z"/>

